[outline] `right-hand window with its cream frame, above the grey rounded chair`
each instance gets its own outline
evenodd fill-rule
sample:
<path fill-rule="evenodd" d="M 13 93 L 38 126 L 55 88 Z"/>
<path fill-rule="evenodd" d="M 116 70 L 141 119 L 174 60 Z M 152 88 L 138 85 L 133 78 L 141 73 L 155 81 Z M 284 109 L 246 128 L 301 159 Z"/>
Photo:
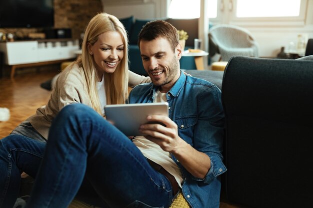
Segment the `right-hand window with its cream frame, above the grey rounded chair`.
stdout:
<path fill-rule="evenodd" d="M 210 21 L 237 25 L 304 25 L 307 0 L 207 0 Z M 212 13 L 212 11 L 209 11 Z M 286 22 L 286 23 L 282 23 Z"/>

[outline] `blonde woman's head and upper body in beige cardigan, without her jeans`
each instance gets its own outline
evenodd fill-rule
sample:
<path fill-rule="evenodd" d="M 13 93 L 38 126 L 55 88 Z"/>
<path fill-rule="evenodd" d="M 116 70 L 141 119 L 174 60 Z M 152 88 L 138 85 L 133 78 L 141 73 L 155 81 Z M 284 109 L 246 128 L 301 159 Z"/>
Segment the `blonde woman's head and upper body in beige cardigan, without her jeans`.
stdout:
<path fill-rule="evenodd" d="M 104 105 L 124 103 L 128 76 L 130 86 L 150 82 L 149 77 L 128 70 L 127 42 L 126 31 L 115 16 L 95 15 L 84 32 L 81 58 L 60 73 L 48 103 L 11 134 L 46 142 L 51 121 L 64 106 L 83 103 L 102 115 Z"/>

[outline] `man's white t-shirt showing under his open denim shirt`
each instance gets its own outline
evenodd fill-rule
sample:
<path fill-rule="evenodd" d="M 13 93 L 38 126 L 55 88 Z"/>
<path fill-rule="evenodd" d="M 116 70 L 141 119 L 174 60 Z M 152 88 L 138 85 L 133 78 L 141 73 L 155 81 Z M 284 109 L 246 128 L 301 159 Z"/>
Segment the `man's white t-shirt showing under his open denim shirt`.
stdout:
<path fill-rule="evenodd" d="M 154 102 L 167 102 L 166 93 L 161 93 L 158 90 L 156 92 Z M 139 148 L 144 157 L 162 166 L 170 175 L 172 175 L 181 188 L 183 180 L 180 169 L 171 159 L 168 152 L 162 150 L 160 146 L 143 136 L 135 137 L 132 142 Z"/>

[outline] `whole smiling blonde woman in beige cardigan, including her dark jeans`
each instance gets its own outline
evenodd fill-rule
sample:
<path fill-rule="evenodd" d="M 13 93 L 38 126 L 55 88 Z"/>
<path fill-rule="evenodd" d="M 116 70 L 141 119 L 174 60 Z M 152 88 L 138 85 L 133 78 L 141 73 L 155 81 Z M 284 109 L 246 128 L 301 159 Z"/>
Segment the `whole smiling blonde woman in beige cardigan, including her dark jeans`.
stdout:
<path fill-rule="evenodd" d="M 81 58 L 59 75 L 48 103 L 0 140 L 0 207 L 13 207 L 21 172 L 35 177 L 51 122 L 64 106 L 82 103 L 103 116 L 104 105 L 125 102 L 128 76 L 130 85 L 150 81 L 129 72 L 126 31 L 115 16 L 95 15 L 84 34 Z"/>

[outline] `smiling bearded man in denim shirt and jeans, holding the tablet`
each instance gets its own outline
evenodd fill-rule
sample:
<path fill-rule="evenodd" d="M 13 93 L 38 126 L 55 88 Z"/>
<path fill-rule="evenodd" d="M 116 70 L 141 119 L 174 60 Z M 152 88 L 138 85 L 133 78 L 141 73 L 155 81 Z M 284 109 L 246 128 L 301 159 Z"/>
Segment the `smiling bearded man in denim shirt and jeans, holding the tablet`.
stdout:
<path fill-rule="evenodd" d="M 182 50 L 171 24 L 148 22 L 138 46 L 152 83 L 134 87 L 128 102 L 168 102 L 169 117 L 148 116 L 153 123 L 140 126 L 147 136 L 129 140 L 92 109 L 64 107 L 27 207 L 65 208 L 84 179 L 103 207 L 168 208 L 179 194 L 191 208 L 219 207 L 218 176 L 226 171 L 220 90 L 179 70 Z"/>

